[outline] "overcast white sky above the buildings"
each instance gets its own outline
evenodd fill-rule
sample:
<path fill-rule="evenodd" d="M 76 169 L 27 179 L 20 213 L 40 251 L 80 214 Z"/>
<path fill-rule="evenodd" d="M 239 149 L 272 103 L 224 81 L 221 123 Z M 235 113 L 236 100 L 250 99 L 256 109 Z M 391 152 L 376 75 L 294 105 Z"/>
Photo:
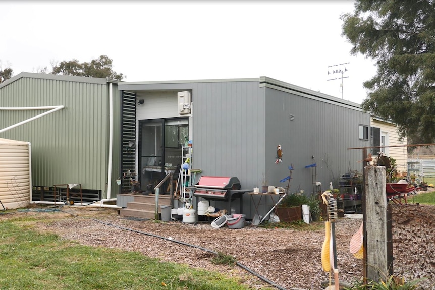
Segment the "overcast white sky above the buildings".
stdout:
<path fill-rule="evenodd" d="M 113 60 L 124 81 L 267 76 L 342 98 L 328 66 L 349 63 L 343 98 L 366 97 L 374 62 L 350 56 L 340 14 L 352 0 L 330 1 L 1 1 L 2 68 L 14 75 L 51 70 L 52 61 Z"/>

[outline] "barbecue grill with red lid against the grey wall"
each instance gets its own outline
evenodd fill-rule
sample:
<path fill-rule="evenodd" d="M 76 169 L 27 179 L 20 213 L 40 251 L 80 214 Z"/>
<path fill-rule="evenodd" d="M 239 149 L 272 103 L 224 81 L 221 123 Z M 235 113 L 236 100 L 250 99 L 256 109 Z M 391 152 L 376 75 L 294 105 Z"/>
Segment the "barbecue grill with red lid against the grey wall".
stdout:
<path fill-rule="evenodd" d="M 243 194 L 251 191 L 242 189 L 237 177 L 201 176 L 193 196 L 202 197 L 206 200 L 228 201 L 229 212 L 231 212 L 231 202 L 240 198 L 240 213 L 243 210 Z"/>

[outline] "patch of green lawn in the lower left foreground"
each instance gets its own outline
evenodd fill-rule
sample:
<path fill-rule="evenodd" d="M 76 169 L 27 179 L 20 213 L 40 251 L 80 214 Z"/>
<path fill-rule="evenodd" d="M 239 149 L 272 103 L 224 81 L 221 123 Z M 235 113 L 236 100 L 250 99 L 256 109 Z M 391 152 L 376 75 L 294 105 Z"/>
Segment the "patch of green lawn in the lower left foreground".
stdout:
<path fill-rule="evenodd" d="M 0 222 L 0 289 L 249 289 L 219 273 L 139 252 L 80 246 L 21 224 Z"/>

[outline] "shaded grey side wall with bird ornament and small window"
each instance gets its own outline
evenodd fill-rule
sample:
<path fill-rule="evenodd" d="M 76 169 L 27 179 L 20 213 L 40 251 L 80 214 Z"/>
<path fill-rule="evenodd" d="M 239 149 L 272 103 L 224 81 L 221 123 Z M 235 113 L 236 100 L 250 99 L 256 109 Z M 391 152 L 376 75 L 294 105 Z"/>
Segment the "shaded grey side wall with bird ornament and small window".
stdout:
<path fill-rule="evenodd" d="M 330 182 L 337 188 L 340 175 L 350 170 L 362 172 L 362 164 L 357 162 L 362 150 L 347 148 L 368 146 L 368 141 L 359 140 L 358 124 L 368 126 L 369 114 L 271 88 L 266 88 L 265 103 L 265 171 L 271 185 L 287 186 L 279 181 L 289 175 L 291 164 L 295 168 L 291 191 L 302 189 L 308 194 L 313 192 L 313 181 L 320 181 L 322 190 L 328 189 Z M 275 164 L 278 144 L 284 152 L 283 162 Z M 315 170 L 305 168 L 313 163 L 316 163 Z"/>

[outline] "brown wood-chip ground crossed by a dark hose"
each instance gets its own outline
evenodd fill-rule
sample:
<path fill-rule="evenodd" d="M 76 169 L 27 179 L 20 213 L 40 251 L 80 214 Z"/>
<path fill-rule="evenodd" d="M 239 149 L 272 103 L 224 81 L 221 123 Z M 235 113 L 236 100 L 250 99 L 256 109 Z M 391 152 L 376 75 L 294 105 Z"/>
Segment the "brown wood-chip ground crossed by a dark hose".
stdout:
<path fill-rule="evenodd" d="M 64 206 L 57 212 L 17 214 L 34 215 L 39 230 L 57 233 L 82 245 L 139 251 L 161 260 L 219 271 L 239 277 L 242 283 L 253 289 L 270 286 L 257 275 L 285 289 L 319 289 L 320 282 L 329 279 L 329 273 L 321 270 L 322 226 L 317 230 L 252 225 L 240 229 L 226 226 L 215 229 L 209 223 L 194 225 L 180 221 L 132 219 L 119 216 L 112 208 L 77 206 Z M 17 214 L 0 215 L 0 221 Z M 339 218 L 335 223 L 337 260 L 340 280 L 352 283 L 362 279 L 362 260 L 349 252 L 349 242 L 358 230 L 362 216 L 348 217 L 352 218 Z M 239 266 L 213 265 L 210 259 L 214 254 L 189 245 L 232 255 L 256 275 Z M 395 267 L 404 262 L 395 260 Z"/>

